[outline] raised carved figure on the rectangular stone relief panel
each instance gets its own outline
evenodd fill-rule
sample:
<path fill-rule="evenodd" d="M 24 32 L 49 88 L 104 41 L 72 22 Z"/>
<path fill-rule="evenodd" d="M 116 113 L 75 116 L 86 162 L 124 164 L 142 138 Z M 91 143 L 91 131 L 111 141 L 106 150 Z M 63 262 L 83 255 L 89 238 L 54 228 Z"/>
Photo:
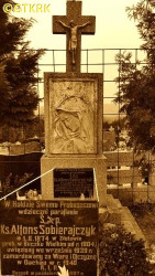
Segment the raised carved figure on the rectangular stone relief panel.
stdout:
<path fill-rule="evenodd" d="M 92 153 L 93 116 L 80 97 L 68 97 L 56 108 L 55 153 Z"/>

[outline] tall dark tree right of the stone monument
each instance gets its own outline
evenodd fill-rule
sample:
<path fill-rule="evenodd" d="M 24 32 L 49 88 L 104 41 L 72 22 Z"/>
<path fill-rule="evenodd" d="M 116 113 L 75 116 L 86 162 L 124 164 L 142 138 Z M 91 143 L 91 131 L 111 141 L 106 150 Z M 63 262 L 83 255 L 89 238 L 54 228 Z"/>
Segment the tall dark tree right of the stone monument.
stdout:
<path fill-rule="evenodd" d="M 132 63 L 131 53 L 117 55 L 119 93 L 115 102 L 125 114 L 135 150 L 155 152 L 155 1 L 141 0 L 126 11 L 136 22 L 146 59 L 142 65 L 139 61 Z"/>

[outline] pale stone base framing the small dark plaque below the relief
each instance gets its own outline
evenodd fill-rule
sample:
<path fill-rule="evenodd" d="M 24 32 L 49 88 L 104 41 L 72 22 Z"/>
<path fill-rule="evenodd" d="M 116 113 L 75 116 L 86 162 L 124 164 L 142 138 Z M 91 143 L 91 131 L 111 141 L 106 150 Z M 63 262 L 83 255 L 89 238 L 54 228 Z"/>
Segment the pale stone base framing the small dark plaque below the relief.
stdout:
<path fill-rule="evenodd" d="M 100 206 L 107 205 L 107 164 L 104 156 L 88 156 L 88 157 L 62 157 L 57 155 L 43 156 L 41 158 L 41 174 L 42 177 L 42 199 L 54 199 L 54 179 L 52 169 L 68 169 L 68 168 L 92 168 L 95 169 L 95 178 L 98 188 Z M 46 173 L 49 171 L 48 173 Z"/>

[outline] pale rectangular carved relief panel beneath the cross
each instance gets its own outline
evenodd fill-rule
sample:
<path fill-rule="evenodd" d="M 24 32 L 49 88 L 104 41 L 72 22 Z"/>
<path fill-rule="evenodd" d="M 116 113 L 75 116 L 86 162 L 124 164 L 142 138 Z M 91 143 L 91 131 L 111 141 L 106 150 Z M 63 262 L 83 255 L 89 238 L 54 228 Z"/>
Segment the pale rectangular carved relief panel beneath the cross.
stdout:
<path fill-rule="evenodd" d="M 49 79 L 51 153 L 96 153 L 96 79 Z"/>

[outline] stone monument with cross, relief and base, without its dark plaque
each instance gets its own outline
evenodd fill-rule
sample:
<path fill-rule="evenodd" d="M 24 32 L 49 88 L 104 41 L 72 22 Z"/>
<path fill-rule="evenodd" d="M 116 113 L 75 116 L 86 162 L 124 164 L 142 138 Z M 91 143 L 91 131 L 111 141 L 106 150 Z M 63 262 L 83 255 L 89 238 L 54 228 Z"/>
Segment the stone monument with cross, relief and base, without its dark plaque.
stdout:
<path fill-rule="evenodd" d="M 66 73 L 44 74 L 45 155 L 41 170 L 42 174 L 53 171 L 42 178 L 42 197 L 43 200 L 55 198 L 55 169 L 92 169 L 100 205 L 106 205 L 103 76 L 80 73 L 81 34 L 95 34 L 96 19 L 81 15 L 81 1 L 66 4 L 67 15 L 53 17 L 53 33 L 67 34 Z"/>

